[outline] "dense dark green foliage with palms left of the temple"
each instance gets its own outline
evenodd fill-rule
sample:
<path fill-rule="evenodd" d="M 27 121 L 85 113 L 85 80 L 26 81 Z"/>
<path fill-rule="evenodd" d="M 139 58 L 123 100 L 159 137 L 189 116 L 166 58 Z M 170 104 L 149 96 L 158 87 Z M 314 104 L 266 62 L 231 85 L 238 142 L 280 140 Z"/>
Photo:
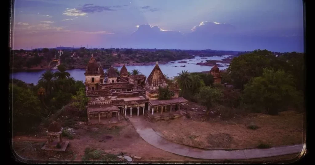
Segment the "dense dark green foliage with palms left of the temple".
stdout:
<path fill-rule="evenodd" d="M 88 101 L 83 82 L 74 80 L 62 65 L 55 73 L 50 70 L 43 73 L 37 85 L 13 79 L 9 87 L 13 128 L 19 132 L 38 126 L 72 100 L 79 110 L 85 109 Z"/>

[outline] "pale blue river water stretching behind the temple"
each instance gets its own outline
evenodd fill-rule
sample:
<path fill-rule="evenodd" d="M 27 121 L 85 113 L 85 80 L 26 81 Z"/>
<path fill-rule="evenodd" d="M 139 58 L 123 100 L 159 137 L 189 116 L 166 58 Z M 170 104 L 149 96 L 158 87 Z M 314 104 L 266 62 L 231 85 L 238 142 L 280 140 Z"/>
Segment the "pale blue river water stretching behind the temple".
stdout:
<path fill-rule="evenodd" d="M 196 56 L 193 59 L 187 59 L 187 60 L 178 60 L 173 61 L 175 63 L 168 62 L 166 64 L 159 64 L 159 67 L 161 68 L 163 74 L 167 74 L 169 77 L 177 76 L 177 73 L 180 73 L 182 70 L 188 70 L 189 72 L 202 72 L 202 71 L 209 71 L 212 67 L 210 66 L 201 66 L 196 65 L 198 62 L 205 62 L 206 60 L 221 60 L 224 58 L 228 58 L 229 56 L 212 56 L 212 57 L 203 57 L 207 59 L 201 59 L 200 56 Z M 187 63 L 178 63 L 179 61 L 187 61 Z M 218 63 L 221 64 L 221 63 Z M 228 64 L 222 64 L 224 67 L 219 67 L 221 70 L 226 69 L 228 67 Z M 177 66 L 177 67 L 175 67 Z M 180 67 L 180 66 L 186 66 L 186 67 Z M 118 70 L 120 70 L 122 67 L 117 67 Z M 138 69 L 142 74 L 144 74 L 146 77 L 148 77 L 154 68 L 153 65 L 147 65 L 147 66 L 126 66 L 128 72 L 131 72 L 133 69 Z M 104 69 L 106 72 L 107 69 Z M 57 70 L 52 70 L 53 72 Z M 10 74 L 10 79 L 19 79 L 26 83 L 33 83 L 37 84 L 37 81 L 39 80 L 39 77 L 41 74 L 43 74 L 45 70 L 42 71 L 36 71 L 36 72 L 16 72 Z M 85 81 L 84 72 L 85 69 L 71 69 L 67 70 L 71 74 L 72 77 L 74 77 L 76 80 L 82 80 Z"/>

